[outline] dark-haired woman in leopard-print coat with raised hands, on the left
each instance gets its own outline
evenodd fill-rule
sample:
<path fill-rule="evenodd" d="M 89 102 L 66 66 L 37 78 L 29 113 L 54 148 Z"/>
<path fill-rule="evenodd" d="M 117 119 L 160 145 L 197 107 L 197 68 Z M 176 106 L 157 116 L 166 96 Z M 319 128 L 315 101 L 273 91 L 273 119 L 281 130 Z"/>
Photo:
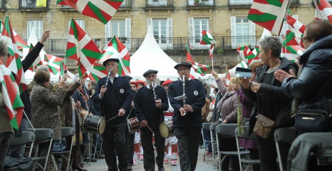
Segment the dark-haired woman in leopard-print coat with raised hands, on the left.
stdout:
<path fill-rule="evenodd" d="M 65 95 L 64 82 L 65 74 L 59 82 L 59 88 L 54 94 L 49 88 L 50 73 L 45 70 L 38 70 L 34 76 L 36 84 L 30 94 L 32 124 L 35 128 L 50 128 L 54 131 L 54 140 L 61 139 L 59 106 Z M 36 142 L 39 144 L 39 156 L 46 156 L 50 140 Z M 45 161 L 41 161 L 41 164 Z"/>

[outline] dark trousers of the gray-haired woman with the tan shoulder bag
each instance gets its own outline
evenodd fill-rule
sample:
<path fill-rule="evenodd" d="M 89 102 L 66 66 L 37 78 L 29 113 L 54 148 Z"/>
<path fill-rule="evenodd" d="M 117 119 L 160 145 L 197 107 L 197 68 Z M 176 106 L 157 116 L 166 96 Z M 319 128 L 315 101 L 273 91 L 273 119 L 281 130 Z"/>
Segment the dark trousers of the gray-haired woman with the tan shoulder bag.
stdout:
<path fill-rule="evenodd" d="M 274 141 L 274 131 L 271 131 L 268 138 L 257 136 L 258 152 L 261 160 L 261 170 L 279 170 L 277 165 L 277 148 Z M 287 169 L 287 155 L 290 144 L 279 142 L 281 162 L 283 169 Z"/>

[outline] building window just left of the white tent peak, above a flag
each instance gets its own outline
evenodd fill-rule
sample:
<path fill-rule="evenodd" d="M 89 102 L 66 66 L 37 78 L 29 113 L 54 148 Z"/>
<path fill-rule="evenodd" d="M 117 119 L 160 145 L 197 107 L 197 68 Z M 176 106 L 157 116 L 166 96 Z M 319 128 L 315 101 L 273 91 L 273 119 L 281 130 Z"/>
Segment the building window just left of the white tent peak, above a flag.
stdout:
<path fill-rule="evenodd" d="M 105 25 L 106 38 L 111 39 L 114 35 L 117 37 L 126 37 L 125 20 L 111 20 Z"/>

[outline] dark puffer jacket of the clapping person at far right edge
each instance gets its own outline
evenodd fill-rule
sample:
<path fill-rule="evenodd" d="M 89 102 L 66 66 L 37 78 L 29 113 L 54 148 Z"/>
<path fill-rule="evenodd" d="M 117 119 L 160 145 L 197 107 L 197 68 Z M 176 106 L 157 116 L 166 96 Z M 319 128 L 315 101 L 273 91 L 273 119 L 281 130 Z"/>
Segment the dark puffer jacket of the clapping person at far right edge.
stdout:
<path fill-rule="evenodd" d="M 313 43 L 301 56 L 300 63 L 303 64 L 300 76 L 285 79 L 283 93 L 300 99 L 299 109 L 328 107 L 332 112 L 329 102 L 332 101 L 332 35 Z"/>

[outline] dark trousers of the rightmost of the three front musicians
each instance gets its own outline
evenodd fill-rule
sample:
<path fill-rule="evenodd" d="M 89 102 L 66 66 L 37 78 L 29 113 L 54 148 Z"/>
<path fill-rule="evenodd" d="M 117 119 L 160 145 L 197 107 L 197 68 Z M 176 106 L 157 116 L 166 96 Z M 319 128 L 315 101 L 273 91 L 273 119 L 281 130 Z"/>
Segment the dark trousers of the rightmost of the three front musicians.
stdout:
<path fill-rule="evenodd" d="M 178 138 L 179 142 L 179 158 L 181 170 L 195 170 L 197 164 L 201 128 L 175 128 L 175 136 Z"/>

